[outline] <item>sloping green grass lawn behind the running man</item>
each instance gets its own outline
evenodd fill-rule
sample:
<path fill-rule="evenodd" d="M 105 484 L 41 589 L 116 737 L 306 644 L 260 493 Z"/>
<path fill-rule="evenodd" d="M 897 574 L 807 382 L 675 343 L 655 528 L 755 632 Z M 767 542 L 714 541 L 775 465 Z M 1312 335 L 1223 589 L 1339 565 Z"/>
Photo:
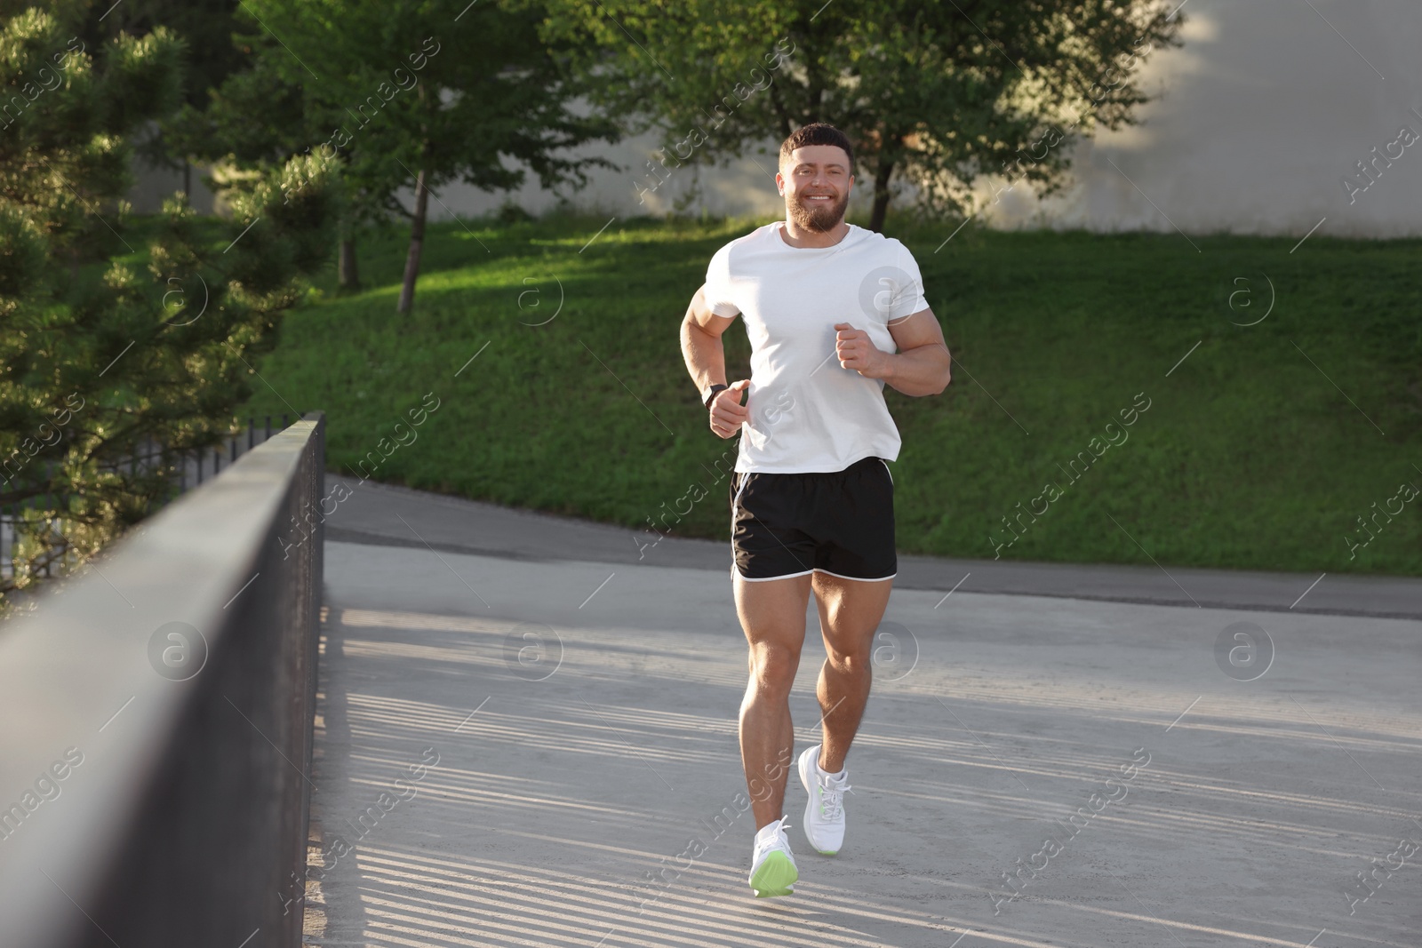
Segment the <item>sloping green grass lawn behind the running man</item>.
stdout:
<path fill-rule="evenodd" d="M 761 222 L 617 219 L 593 239 L 604 223 L 434 226 L 410 317 L 404 236 L 364 242 L 370 289 L 327 276 L 242 414 L 324 409 L 328 466 L 354 472 L 432 394 L 374 479 L 725 539 L 734 442 L 707 428 L 678 324 L 715 249 Z M 1422 242 L 951 230 L 889 227 L 958 362 L 940 397 L 884 389 L 902 551 L 1422 574 L 1422 497 L 1389 500 L 1422 488 Z M 1236 325 L 1270 281 L 1268 317 Z M 1072 482 L 1139 394 L 1129 439 Z"/>

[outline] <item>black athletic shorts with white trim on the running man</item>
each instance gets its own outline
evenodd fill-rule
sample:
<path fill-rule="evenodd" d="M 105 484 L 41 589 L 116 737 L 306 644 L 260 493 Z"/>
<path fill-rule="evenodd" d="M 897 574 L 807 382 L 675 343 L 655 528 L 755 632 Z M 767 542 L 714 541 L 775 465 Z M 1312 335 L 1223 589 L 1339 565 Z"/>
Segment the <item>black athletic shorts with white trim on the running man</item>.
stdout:
<path fill-rule="evenodd" d="M 737 472 L 731 551 L 741 578 L 781 580 L 819 570 L 846 580 L 890 580 L 893 478 L 882 458 L 830 473 Z"/>

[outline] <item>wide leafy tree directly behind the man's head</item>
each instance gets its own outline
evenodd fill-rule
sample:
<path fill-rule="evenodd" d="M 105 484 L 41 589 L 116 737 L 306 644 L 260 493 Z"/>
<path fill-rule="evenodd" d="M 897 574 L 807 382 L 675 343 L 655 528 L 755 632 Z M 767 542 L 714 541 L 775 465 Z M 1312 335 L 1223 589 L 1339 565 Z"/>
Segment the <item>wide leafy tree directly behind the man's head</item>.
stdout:
<path fill-rule="evenodd" d="M 875 230 L 900 182 L 937 212 L 990 173 L 1059 188 L 1076 136 L 1136 121 L 1132 71 L 1180 23 L 1158 0 L 552 1 L 545 30 L 587 47 L 589 97 L 663 134 L 638 193 L 830 122 L 872 182 Z"/>

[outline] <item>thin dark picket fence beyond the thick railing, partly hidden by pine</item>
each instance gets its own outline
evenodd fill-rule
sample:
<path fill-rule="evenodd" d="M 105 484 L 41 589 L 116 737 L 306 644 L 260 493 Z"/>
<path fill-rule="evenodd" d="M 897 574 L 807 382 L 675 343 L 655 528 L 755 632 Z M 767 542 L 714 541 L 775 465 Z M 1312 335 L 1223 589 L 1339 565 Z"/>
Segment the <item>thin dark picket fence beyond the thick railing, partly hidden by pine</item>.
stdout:
<path fill-rule="evenodd" d="M 274 428 L 273 418 L 279 419 Z M 219 445 L 199 451 L 165 451 L 161 445 L 146 445 L 124 462 L 122 466 L 134 472 L 139 468 L 146 470 L 168 468 L 172 489 L 166 497 L 159 500 L 159 506 L 162 506 L 188 490 L 202 486 L 205 479 L 210 480 L 216 478 L 225 468 L 236 463 L 237 458 L 243 453 L 269 441 L 273 432 L 280 433 L 286 429 L 290 418 L 292 415 L 289 414 L 247 416 L 247 425 L 243 431 L 228 435 Z M 53 493 L 44 493 L 23 503 L 0 505 L 0 580 L 13 578 L 16 574 L 16 524 L 26 520 L 27 512 L 64 509 L 63 500 L 63 497 Z M 63 517 L 51 517 L 47 523 L 53 523 L 55 529 L 63 532 L 63 523 L 55 523 L 57 520 L 63 520 Z M 63 563 L 71 561 L 73 557 L 70 560 L 46 560 L 37 576 L 53 577 L 60 571 Z"/>

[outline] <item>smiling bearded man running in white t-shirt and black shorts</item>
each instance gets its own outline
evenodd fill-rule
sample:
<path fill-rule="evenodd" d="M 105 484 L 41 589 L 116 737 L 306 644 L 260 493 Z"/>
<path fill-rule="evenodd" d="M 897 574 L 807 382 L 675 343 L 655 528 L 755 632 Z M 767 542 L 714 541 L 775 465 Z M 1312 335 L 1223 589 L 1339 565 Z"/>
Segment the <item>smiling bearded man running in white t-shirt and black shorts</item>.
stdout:
<path fill-rule="evenodd" d="M 741 435 L 731 573 L 751 652 L 741 763 L 759 897 L 793 893 L 799 877 L 784 806 L 795 746 L 789 692 L 811 591 L 828 658 L 816 688 L 822 740 L 798 760 L 809 795 L 802 829 L 826 856 L 845 839 L 845 758 L 869 701 L 873 634 L 897 573 L 886 462 L 899 458 L 900 442 L 883 387 L 937 395 L 948 384 L 948 348 L 913 256 L 845 222 L 853 161 L 832 125 L 786 138 L 775 175 L 785 220 L 721 247 L 681 323 L 711 431 Z M 737 316 L 751 338 L 751 378 L 727 385 L 721 334 Z"/>

